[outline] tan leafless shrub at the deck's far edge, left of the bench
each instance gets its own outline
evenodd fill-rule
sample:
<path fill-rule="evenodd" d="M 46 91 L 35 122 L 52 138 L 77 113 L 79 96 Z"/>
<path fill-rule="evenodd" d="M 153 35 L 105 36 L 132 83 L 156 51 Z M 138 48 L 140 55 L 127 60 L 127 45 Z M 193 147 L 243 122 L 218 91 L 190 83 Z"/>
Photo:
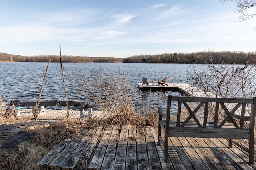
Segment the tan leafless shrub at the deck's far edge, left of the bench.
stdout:
<path fill-rule="evenodd" d="M 151 122 L 156 117 L 155 113 L 148 111 L 140 114 L 135 111 L 136 94 L 128 81 L 126 69 L 118 68 L 111 75 L 99 71 L 90 80 L 80 75 L 80 82 L 86 94 L 104 113 L 105 119 L 100 121 L 101 124 L 155 124 Z"/>

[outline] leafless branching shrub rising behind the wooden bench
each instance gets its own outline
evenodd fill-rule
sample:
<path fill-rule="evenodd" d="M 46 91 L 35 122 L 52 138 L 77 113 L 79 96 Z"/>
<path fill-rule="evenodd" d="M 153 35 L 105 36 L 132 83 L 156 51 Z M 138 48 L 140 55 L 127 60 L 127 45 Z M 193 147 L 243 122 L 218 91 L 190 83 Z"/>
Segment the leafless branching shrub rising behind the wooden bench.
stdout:
<path fill-rule="evenodd" d="M 188 74 L 192 84 L 204 90 L 206 97 L 252 98 L 256 95 L 255 63 L 246 63 L 244 66 L 238 66 L 236 63 L 214 64 L 212 51 L 208 50 L 208 60 L 205 61 L 204 68 L 198 68 L 193 64 L 188 68 Z M 210 113 L 213 113 L 214 106 L 209 104 L 209 109 Z M 246 110 L 249 114 L 249 105 Z M 223 116 L 224 112 L 222 112 Z"/>

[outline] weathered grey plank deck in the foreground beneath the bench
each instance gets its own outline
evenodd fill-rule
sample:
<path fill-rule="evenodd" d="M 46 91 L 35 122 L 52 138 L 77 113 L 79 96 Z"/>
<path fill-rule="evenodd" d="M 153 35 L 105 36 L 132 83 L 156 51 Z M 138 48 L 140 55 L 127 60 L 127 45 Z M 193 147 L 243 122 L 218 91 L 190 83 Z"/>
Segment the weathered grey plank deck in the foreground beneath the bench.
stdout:
<path fill-rule="evenodd" d="M 81 142 L 60 143 L 38 165 L 79 169 L 81 162 L 89 158 L 90 170 L 256 169 L 255 164 L 248 164 L 248 155 L 235 146 L 227 147 L 227 139 L 170 137 L 168 162 L 164 162 L 156 128 L 96 125 L 85 131 Z M 239 142 L 248 145 L 247 141 Z"/>

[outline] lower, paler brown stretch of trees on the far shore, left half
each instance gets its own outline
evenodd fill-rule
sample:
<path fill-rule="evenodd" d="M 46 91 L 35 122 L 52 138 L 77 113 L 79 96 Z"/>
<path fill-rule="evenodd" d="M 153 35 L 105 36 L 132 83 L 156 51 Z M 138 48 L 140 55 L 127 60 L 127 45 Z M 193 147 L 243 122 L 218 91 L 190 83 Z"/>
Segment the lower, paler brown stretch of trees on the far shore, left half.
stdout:
<path fill-rule="evenodd" d="M 59 55 L 39 55 L 39 56 L 21 56 L 7 53 L 0 53 L 0 61 L 2 62 L 60 62 Z M 66 63 L 122 63 L 121 58 L 114 57 L 85 57 L 85 56 L 62 56 L 62 62 Z"/>

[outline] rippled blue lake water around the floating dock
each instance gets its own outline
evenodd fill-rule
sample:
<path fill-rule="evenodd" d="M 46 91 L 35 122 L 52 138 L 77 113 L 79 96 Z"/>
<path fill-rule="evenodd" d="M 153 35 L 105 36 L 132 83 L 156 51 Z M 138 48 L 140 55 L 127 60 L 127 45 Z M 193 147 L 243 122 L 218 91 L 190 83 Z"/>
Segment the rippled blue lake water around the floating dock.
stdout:
<path fill-rule="evenodd" d="M 0 94 L 6 100 L 37 99 L 42 84 L 42 74 L 47 63 L 0 63 Z M 108 75 L 118 74 L 119 68 L 126 68 L 129 82 L 137 92 L 137 106 L 147 101 L 152 107 L 166 107 L 167 95 L 179 96 L 178 92 L 152 92 L 138 90 L 142 77 L 149 80 L 189 83 L 187 69 L 189 64 L 143 64 L 143 63 L 62 63 L 68 99 L 90 100 L 81 92 L 79 75 L 94 78 L 98 72 Z M 60 63 L 50 63 L 41 99 L 65 98 Z M 63 109 L 63 108 L 60 108 Z"/>

